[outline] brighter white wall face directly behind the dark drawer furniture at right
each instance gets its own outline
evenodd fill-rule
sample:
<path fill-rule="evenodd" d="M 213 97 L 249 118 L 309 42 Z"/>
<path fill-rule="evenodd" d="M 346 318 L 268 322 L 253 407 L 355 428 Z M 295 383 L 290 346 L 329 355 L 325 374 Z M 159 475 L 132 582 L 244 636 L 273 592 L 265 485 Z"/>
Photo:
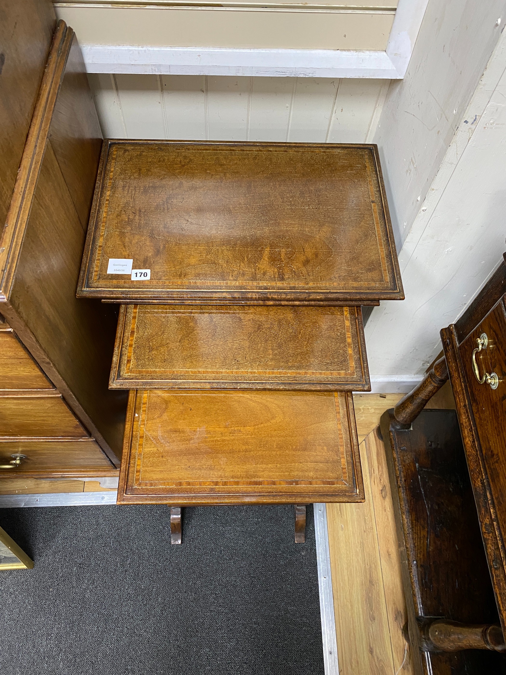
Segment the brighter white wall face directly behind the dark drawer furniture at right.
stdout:
<path fill-rule="evenodd" d="M 399 255 L 406 299 L 374 308 L 366 325 L 373 391 L 409 391 L 421 379 L 441 351 L 440 329 L 506 250 L 506 31 L 459 121 Z M 411 180 L 421 179 L 413 167 Z"/>

